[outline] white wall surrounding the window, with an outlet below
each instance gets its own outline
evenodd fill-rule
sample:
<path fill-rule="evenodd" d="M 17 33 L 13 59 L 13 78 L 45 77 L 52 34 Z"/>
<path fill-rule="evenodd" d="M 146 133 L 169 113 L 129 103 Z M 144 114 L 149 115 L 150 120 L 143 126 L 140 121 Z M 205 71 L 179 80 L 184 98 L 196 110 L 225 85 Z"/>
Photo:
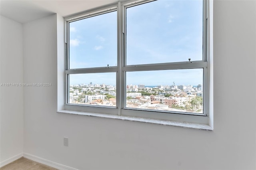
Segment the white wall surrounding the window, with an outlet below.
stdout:
<path fill-rule="evenodd" d="M 52 83 L 24 88 L 24 152 L 78 169 L 255 169 L 256 91 L 237 89 L 256 86 L 256 2 L 213 9 L 214 131 L 56 113 L 63 20 L 24 24 L 24 82 Z"/>

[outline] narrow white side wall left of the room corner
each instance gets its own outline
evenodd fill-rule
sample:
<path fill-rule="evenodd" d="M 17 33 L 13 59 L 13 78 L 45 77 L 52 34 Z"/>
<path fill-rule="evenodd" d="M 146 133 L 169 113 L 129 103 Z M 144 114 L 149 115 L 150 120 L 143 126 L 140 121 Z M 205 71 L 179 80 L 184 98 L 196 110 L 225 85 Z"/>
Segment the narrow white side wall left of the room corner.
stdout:
<path fill-rule="evenodd" d="M 23 83 L 22 24 L 0 16 L 0 84 Z M 0 162 L 23 152 L 23 88 L 0 86 Z"/>

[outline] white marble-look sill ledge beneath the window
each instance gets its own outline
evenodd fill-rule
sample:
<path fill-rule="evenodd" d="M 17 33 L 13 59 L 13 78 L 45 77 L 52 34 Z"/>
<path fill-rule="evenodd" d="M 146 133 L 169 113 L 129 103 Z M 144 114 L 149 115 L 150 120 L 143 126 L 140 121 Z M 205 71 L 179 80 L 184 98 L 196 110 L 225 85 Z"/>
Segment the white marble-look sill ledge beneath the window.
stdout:
<path fill-rule="evenodd" d="M 158 125 L 168 125 L 168 126 L 173 126 L 173 127 L 193 128 L 193 129 L 199 129 L 199 130 L 210 130 L 210 131 L 213 130 L 213 128 L 210 127 L 209 125 L 199 124 L 199 123 L 166 121 L 166 120 L 160 120 L 160 119 L 148 119 L 148 118 L 141 118 L 141 117 L 118 116 L 118 115 L 101 114 L 101 113 L 89 113 L 89 112 L 71 111 L 71 110 L 61 110 L 61 111 L 57 111 L 57 113 L 69 113 L 69 114 L 75 114 L 75 115 L 86 115 L 86 116 L 93 116 L 93 117 L 120 119 L 120 120 L 126 120 L 126 121 L 153 123 L 153 124 L 158 124 Z"/>

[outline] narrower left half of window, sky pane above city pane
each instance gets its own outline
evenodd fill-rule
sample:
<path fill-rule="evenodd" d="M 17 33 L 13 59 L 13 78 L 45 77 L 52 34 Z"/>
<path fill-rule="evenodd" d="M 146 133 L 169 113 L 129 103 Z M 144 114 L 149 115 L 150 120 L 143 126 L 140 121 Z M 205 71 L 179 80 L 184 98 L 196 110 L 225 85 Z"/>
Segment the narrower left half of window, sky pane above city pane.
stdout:
<path fill-rule="evenodd" d="M 67 29 L 67 104 L 116 108 L 116 9 L 70 21 Z"/>

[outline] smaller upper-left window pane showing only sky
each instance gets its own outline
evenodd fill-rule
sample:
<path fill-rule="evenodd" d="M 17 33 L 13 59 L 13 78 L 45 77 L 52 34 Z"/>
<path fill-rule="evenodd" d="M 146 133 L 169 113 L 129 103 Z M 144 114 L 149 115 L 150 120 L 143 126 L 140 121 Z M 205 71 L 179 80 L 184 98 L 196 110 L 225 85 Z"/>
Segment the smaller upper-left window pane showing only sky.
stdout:
<path fill-rule="evenodd" d="M 69 67 L 117 65 L 116 11 L 69 23 Z"/>

